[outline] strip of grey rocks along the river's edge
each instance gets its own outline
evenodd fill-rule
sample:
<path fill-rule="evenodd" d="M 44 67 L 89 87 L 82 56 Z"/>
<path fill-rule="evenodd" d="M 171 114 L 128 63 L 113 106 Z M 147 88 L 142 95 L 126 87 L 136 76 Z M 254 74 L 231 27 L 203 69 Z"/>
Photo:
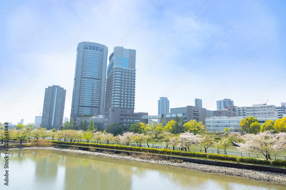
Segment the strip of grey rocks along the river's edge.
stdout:
<path fill-rule="evenodd" d="M 117 159 L 163 164 L 163 165 L 168 165 L 168 166 L 193 169 L 193 170 L 202 171 L 202 172 L 219 173 L 219 174 L 225 174 L 225 175 L 245 177 L 245 178 L 258 180 L 258 181 L 270 181 L 270 182 L 286 184 L 285 173 L 267 172 L 267 171 L 233 168 L 233 167 L 225 167 L 225 166 L 213 166 L 213 165 L 207 165 L 207 164 L 197 164 L 197 163 L 192 163 L 192 162 L 174 163 L 168 160 L 138 158 L 137 156 L 133 157 L 133 156 L 127 156 L 127 155 L 120 155 L 120 154 L 108 154 L 108 153 L 102 153 L 102 152 L 90 152 L 90 151 L 84 151 L 84 150 L 71 150 L 71 149 L 53 148 L 53 147 L 11 148 L 9 150 L 19 150 L 19 149 L 22 149 L 22 150 L 24 149 L 57 150 L 57 151 L 71 152 L 71 153 L 77 153 L 77 154 L 90 154 L 90 155 L 95 155 L 95 156 L 105 156 L 105 157 L 117 158 Z"/>

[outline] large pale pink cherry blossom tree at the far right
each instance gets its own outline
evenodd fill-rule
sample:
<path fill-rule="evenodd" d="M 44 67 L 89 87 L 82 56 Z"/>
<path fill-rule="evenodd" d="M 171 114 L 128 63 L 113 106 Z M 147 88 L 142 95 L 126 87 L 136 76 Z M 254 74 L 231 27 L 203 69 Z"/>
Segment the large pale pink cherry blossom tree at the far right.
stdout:
<path fill-rule="evenodd" d="M 273 131 L 264 131 L 257 134 L 245 134 L 241 138 L 245 142 L 234 142 L 242 152 L 261 153 L 266 160 L 270 154 L 277 154 L 286 150 L 286 133 L 272 134 Z M 271 159 L 271 158 L 270 158 Z"/>

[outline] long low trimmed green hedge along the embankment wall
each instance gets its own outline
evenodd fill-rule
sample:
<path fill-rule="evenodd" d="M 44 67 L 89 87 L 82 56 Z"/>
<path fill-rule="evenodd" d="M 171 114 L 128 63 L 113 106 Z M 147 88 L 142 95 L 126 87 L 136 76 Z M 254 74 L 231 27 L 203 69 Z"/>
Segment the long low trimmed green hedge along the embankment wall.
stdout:
<path fill-rule="evenodd" d="M 212 159 L 212 160 L 241 162 L 241 163 L 248 163 L 248 164 L 262 164 L 262 165 L 272 164 L 273 166 L 286 166 L 285 160 L 273 160 L 272 162 L 270 162 L 266 160 L 260 160 L 257 158 L 230 156 L 230 155 L 225 155 L 225 154 L 202 153 L 202 152 L 186 152 L 182 150 L 169 150 L 167 148 L 157 149 L 157 148 L 145 148 L 145 147 L 136 147 L 136 146 L 122 146 L 122 145 L 117 145 L 117 144 L 112 145 L 112 144 L 98 144 L 98 143 L 87 143 L 87 142 L 62 142 L 62 141 L 56 141 L 56 140 L 52 140 L 51 142 L 55 144 L 109 148 L 109 149 L 145 152 L 145 153 L 153 153 L 153 154 L 165 154 L 165 155 L 170 155 L 170 156 L 197 157 L 197 158 L 206 158 L 206 159 Z"/>

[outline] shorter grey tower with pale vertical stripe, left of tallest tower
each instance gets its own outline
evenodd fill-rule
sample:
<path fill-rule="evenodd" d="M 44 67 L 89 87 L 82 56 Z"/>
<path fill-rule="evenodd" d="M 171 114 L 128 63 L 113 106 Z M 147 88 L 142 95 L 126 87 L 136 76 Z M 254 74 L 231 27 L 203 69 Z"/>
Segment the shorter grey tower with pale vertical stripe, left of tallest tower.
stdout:
<path fill-rule="evenodd" d="M 66 90 L 60 86 L 49 86 L 45 89 L 41 127 L 57 129 L 63 124 Z"/>

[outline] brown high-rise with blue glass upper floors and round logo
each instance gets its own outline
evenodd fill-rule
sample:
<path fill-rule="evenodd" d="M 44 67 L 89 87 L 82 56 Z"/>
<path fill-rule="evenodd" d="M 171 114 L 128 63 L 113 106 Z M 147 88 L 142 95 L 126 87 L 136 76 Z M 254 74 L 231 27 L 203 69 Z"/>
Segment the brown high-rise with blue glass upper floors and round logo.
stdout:
<path fill-rule="evenodd" d="M 114 47 L 107 66 L 104 113 L 113 107 L 134 113 L 135 60 L 136 50 Z"/>

